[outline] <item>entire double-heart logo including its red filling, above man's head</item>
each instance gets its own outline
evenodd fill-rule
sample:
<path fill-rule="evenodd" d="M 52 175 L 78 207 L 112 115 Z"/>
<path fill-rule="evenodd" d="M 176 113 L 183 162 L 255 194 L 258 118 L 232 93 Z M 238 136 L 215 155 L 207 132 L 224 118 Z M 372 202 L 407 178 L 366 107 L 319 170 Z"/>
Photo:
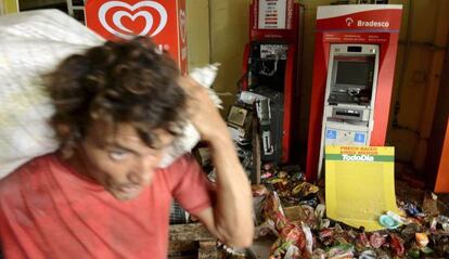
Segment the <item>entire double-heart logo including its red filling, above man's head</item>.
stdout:
<path fill-rule="evenodd" d="M 138 11 L 136 12 L 136 10 Z M 146 0 L 133 5 L 121 1 L 108 1 L 100 7 L 99 20 L 110 34 L 130 39 L 133 35 L 156 36 L 167 24 L 168 15 L 165 8 L 155 1 Z M 125 22 L 128 22 L 128 26 Z M 129 24 L 132 23 L 141 24 L 141 30 L 131 30 Z"/>

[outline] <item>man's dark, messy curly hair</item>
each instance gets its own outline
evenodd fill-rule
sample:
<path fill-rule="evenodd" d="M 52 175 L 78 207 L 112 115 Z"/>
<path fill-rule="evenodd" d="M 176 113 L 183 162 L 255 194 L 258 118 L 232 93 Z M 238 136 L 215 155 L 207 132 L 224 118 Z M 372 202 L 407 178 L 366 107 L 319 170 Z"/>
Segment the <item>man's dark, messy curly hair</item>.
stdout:
<path fill-rule="evenodd" d="M 63 150 L 84 140 L 95 119 L 132 124 L 151 147 L 157 143 L 155 129 L 181 134 L 185 94 L 179 70 L 149 38 L 107 41 L 68 56 L 44 78 L 55 106 L 51 125 Z"/>

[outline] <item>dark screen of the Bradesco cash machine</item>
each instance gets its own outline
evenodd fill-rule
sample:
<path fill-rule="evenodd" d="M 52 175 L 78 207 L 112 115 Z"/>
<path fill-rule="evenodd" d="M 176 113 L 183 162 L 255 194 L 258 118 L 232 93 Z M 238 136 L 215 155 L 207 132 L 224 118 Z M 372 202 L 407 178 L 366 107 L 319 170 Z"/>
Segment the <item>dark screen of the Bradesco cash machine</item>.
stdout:
<path fill-rule="evenodd" d="M 373 65 L 372 62 L 339 61 L 335 83 L 368 87 L 372 83 Z"/>

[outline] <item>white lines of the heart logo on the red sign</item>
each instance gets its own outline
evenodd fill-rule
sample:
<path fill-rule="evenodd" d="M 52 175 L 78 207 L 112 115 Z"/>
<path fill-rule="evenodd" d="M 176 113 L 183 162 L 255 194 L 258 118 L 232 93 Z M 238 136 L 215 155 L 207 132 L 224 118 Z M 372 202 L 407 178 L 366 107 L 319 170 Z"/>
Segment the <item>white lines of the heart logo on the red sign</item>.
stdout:
<path fill-rule="evenodd" d="M 129 34 L 124 34 L 120 31 L 117 31 L 116 29 L 114 29 L 113 27 L 111 27 L 106 21 L 106 13 L 110 9 L 112 8 L 124 8 L 127 9 L 131 12 L 133 12 L 137 9 L 140 8 L 152 8 L 154 10 L 157 11 L 157 13 L 161 16 L 161 23 L 157 26 L 157 28 L 150 35 L 151 37 L 156 36 L 157 34 L 159 34 L 165 25 L 167 24 L 167 11 L 165 10 L 165 8 L 157 2 L 154 1 L 141 1 L 136 3 L 134 5 L 130 5 L 128 3 L 125 2 L 120 2 L 120 1 L 111 1 L 111 2 L 105 2 L 103 5 L 101 5 L 100 10 L 99 10 L 99 18 L 100 18 L 100 23 L 103 25 L 103 27 L 110 31 L 113 35 L 116 35 L 120 38 L 124 39 L 131 39 L 133 37 L 133 31 L 130 30 L 129 28 L 126 28 L 123 24 L 121 24 L 121 18 L 124 16 L 131 18 L 132 21 L 136 21 L 137 17 L 143 17 L 145 18 L 145 27 L 142 29 L 142 31 L 140 31 L 138 35 L 139 36 L 146 36 L 151 29 L 153 28 L 153 15 L 147 12 L 147 11 L 139 11 L 137 13 L 134 13 L 133 15 L 130 14 L 128 11 L 117 11 L 113 14 L 112 16 L 112 22 L 114 23 L 115 26 L 117 26 L 117 28 L 119 28 L 120 30 L 123 30 L 124 33 L 129 33 Z"/>

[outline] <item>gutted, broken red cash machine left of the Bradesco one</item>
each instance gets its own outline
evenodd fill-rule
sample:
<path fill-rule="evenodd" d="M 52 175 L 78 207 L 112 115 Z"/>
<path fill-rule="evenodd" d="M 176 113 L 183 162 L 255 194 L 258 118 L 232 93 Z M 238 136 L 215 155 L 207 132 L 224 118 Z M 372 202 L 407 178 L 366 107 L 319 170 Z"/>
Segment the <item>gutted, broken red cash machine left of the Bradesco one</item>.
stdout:
<path fill-rule="evenodd" d="M 261 161 L 286 163 L 297 139 L 298 56 L 304 8 L 293 0 L 253 0 L 240 90 L 255 106 Z"/>

